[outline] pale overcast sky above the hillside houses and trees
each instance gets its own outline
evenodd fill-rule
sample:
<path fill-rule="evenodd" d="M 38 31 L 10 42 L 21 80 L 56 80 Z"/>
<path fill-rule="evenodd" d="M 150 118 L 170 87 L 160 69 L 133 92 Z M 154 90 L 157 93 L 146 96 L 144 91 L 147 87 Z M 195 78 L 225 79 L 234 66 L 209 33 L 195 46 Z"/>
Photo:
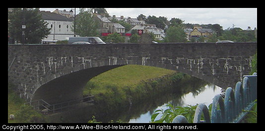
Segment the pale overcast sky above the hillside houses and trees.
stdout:
<path fill-rule="evenodd" d="M 56 8 L 40 8 L 40 10 L 54 11 Z M 71 8 L 59 8 L 59 10 Z M 184 23 L 191 24 L 220 24 L 223 29 L 228 27 L 239 27 L 243 30 L 248 26 L 251 29 L 257 26 L 257 8 L 106 8 L 107 12 L 116 17 L 124 16 L 136 18 L 139 14 L 146 17 L 154 15 L 156 17 L 165 16 L 168 20 L 171 18 L 180 18 Z M 76 14 L 79 8 L 76 8 Z"/>

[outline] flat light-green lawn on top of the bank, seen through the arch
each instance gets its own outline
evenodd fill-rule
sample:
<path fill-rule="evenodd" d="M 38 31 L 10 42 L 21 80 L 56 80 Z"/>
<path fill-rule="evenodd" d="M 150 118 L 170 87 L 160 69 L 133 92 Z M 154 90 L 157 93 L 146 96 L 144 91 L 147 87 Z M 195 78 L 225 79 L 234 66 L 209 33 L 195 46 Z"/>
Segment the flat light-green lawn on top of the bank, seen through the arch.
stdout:
<path fill-rule="evenodd" d="M 108 85 L 135 87 L 142 80 L 158 78 L 174 72 L 174 70 L 152 66 L 126 65 L 104 72 L 92 78 L 90 82 L 96 83 L 99 90 Z M 87 88 L 84 94 L 87 94 Z"/>

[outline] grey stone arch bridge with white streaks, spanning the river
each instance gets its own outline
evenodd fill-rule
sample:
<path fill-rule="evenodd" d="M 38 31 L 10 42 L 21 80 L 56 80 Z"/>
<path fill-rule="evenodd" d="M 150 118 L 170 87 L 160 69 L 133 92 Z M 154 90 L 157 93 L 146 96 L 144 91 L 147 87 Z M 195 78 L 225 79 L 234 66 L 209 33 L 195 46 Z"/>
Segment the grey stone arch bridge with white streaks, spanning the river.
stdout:
<path fill-rule="evenodd" d="M 172 69 L 227 88 L 250 73 L 256 52 L 257 42 L 8 45 L 8 81 L 27 101 L 50 104 L 81 98 L 89 79 L 124 65 Z"/>

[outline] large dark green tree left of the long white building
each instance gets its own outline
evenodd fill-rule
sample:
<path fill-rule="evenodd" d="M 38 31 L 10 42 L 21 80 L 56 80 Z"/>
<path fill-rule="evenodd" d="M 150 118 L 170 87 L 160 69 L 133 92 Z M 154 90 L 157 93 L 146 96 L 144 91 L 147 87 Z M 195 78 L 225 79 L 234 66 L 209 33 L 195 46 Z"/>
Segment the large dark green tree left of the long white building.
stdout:
<path fill-rule="evenodd" d="M 18 43 L 36 44 L 50 34 L 48 23 L 39 14 L 39 8 L 14 8 L 8 12 L 9 35 Z M 22 25 L 26 25 L 22 29 Z M 24 38 L 22 37 L 24 31 Z"/>

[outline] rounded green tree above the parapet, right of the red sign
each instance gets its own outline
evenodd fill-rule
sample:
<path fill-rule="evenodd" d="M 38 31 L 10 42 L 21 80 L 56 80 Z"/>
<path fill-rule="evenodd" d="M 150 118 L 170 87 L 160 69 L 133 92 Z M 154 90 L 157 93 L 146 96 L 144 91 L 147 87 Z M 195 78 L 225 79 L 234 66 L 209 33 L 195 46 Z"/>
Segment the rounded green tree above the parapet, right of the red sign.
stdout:
<path fill-rule="evenodd" d="M 167 30 L 165 42 L 187 42 L 187 35 L 181 27 L 170 26 Z"/>

